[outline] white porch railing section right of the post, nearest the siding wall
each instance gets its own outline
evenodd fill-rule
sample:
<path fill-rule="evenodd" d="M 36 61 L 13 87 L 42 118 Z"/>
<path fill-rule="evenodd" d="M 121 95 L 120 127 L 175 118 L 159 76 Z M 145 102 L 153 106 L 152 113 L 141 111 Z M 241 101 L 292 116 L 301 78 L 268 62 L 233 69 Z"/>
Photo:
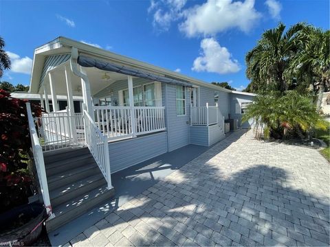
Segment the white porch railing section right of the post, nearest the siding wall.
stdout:
<path fill-rule="evenodd" d="M 134 107 L 135 132 L 147 134 L 165 130 L 165 107 Z"/>

